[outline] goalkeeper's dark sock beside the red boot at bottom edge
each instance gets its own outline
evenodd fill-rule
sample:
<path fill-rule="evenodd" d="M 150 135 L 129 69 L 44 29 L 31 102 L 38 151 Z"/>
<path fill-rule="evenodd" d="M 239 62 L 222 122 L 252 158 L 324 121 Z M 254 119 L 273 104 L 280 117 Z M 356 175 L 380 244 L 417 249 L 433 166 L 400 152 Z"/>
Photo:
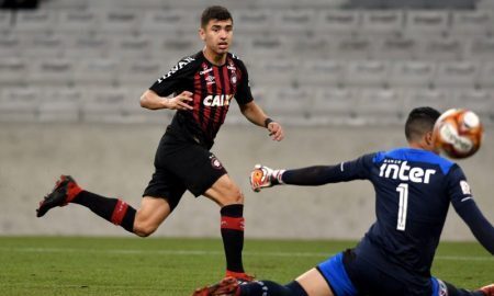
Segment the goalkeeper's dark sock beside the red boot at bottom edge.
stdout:
<path fill-rule="evenodd" d="M 240 296 L 307 296 L 307 293 L 296 281 L 284 286 L 271 281 L 256 281 L 239 287 Z"/>

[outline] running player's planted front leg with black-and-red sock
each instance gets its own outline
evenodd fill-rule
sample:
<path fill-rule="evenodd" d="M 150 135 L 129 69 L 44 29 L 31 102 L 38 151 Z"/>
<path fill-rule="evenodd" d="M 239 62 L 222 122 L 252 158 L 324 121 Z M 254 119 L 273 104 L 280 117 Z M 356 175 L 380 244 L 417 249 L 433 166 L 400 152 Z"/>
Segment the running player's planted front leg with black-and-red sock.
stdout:
<path fill-rule="evenodd" d="M 226 275 L 250 281 L 242 262 L 244 249 L 244 195 L 225 173 L 204 192 L 204 195 L 220 205 L 221 234 L 226 255 Z"/>

